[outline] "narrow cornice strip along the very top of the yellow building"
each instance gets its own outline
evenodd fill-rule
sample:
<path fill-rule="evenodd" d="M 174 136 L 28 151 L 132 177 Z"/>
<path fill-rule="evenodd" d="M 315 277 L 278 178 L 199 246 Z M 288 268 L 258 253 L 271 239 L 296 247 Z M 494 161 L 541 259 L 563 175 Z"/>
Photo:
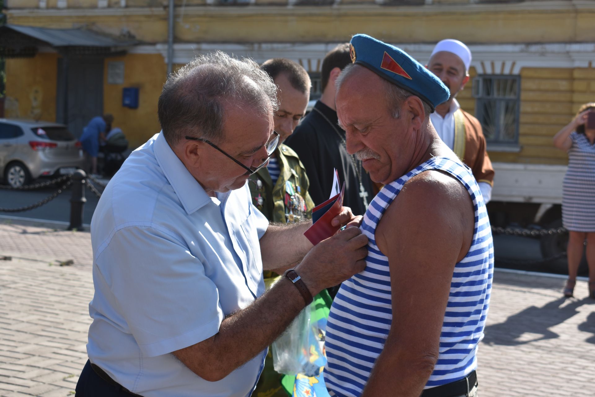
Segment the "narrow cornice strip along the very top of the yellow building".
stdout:
<path fill-rule="evenodd" d="M 383 4 L 334 4 L 331 6 L 311 5 L 243 5 L 243 6 L 186 6 L 176 7 L 177 16 L 215 17 L 226 15 L 349 15 L 359 17 L 374 15 L 405 16 L 436 13 L 476 14 L 478 12 L 579 12 L 595 11 L 591 0 L 531 1 L 506 4 L 426 4 L 426 5 L 383 5 Z M 81 17 L 81 16 L 129 16 L 167 15 L 167 7 L 142 8 L 61 8 L 61 9 L 12 9 L 5 10 L 8 17 Z"/>

